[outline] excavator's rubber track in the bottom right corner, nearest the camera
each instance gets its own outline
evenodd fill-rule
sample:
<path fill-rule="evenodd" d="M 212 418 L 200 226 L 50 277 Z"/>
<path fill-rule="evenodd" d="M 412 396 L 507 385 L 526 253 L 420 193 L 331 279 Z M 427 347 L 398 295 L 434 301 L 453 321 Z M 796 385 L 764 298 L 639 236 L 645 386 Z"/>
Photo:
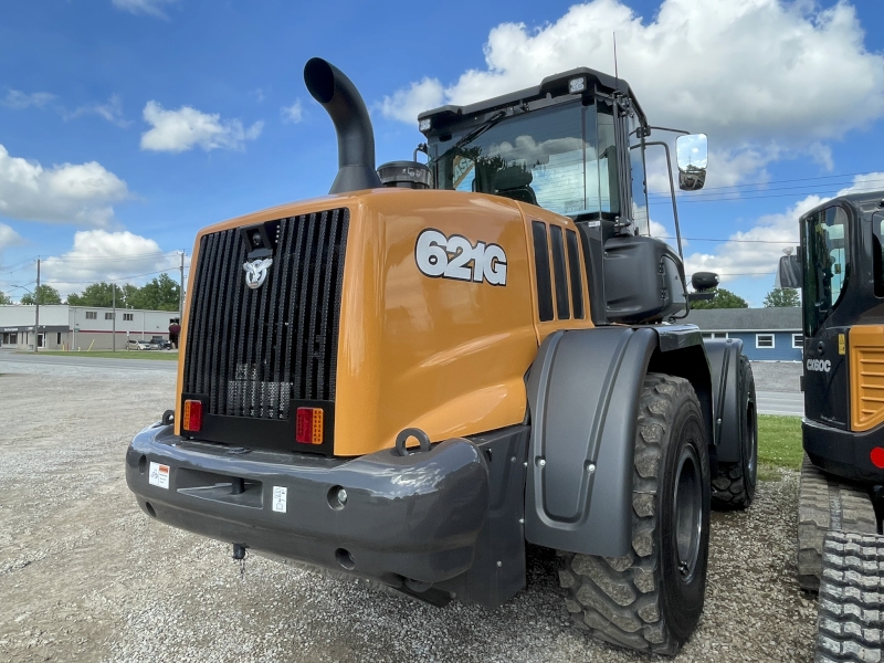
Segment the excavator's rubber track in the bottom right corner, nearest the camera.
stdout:
<path fill-rule="evenodd" d="M 818 663 L 884 663 L 884 536 L 825 535 Z"/>

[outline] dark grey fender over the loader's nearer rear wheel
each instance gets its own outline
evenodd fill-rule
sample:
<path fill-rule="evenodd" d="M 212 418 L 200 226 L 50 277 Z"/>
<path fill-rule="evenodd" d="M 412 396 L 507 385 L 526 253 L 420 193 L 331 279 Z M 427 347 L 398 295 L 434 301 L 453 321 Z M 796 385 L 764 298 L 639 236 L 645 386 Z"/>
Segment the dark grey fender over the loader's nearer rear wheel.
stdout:
<path fill-rule="evenodd" d="M 544 340 L 528 376 L 529 543 L 606 557 L 629 552 L 635 421 L 649 370 L 691 380 L 708 429 L 709 372 L 696 327 L 603 327 Z"/>

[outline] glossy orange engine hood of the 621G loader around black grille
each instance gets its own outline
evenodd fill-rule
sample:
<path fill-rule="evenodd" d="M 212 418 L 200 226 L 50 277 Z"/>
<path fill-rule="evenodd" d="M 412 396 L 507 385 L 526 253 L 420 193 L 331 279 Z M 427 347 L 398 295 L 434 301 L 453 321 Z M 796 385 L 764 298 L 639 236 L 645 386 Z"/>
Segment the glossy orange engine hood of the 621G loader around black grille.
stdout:
<path fill-rule="evenodd" d="M 495 196 L 378 189 L 281 206 L 207 228 L 197 236 L 193 264 L 206 234 L 330 208 L 349 210 L 334 454 L 390 448 L 407 428 L 420 428 L 435 442 L 522 423 L 525 373 L 539 343 L 556 329 L 592 326 L 582 251 L 576 252 L 579 269 L 568 264 L 565 270 L 566 291 L 580 297 L 581 306 L 571 305 L 566 319 L 554 315 L 540 322 L 538 316 L 532 225 L 543 222 L 547 232 L 559 227 L 567 236 L 573 222 Z M 550 255 L 539 263 L 552 265 L 547 245 Z M 439 273 L 445 265 L 427 262 L 428 246 L 448 261 L 445 273 Z M 580 284 L 570 283 L 575 275 Z M 192 293 L 189 287 L 178 403 Z M 555 287 L 552 296 L 555 304 Z M 582 317 L 575 318 L 579 308 Z"/>

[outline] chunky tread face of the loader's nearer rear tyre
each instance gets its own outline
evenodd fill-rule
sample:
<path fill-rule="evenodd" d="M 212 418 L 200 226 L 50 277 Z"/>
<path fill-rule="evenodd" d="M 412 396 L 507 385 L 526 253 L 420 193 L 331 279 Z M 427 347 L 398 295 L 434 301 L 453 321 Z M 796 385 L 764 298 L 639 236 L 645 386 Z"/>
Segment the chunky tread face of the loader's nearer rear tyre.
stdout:
<path fill-rule="evenodd" d="M 678 393 L 691 390 L 682 378 L 649 373 L 639 410 L 632 494 L 632 550 L 623 557 L 558 551 L 559 583 L 575 624 L 596 638 L 632 650 L 675 654 L 675 642 L 660 608 L 661 568 L 654 549 L 661 441 Z"/>

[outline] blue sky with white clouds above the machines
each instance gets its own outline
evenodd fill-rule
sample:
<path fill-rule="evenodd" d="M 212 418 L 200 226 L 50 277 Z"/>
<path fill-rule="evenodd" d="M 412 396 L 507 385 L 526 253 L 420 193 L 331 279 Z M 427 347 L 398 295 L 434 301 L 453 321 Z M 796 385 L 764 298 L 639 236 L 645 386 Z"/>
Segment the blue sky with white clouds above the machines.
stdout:
<path fill-rule="evenodd" d="M 377 161 L 421 110 L 618 73 L 652 125 L 705 133 L 680 193 L 686 271 L 761 306 L 798 217 L 884 190 L 881 0 L 39 0 L 0 9 L 0 291 L 136 285 L 189 265 L 200 228 L 325 194 L 335 133 L 304 86 L 325 57 L 360 90 Z M 667 138 L 654 133 L 653 138 Z M 652 228 L 673 236 L 649 161 Z"/>

